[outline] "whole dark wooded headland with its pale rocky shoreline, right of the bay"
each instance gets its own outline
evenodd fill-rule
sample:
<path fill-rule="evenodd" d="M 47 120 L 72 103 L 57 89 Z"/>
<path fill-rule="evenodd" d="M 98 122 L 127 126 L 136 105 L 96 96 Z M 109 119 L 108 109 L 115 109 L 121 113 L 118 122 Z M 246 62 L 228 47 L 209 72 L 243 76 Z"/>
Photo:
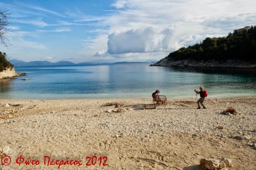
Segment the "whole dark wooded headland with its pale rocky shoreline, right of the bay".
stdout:
<path fill-rule="evenodd" d="M 203 43 L 171 52 L 150 66 L 256 68 L 256 26 L 246 26 L 227 37 L 207 37 Z"/>

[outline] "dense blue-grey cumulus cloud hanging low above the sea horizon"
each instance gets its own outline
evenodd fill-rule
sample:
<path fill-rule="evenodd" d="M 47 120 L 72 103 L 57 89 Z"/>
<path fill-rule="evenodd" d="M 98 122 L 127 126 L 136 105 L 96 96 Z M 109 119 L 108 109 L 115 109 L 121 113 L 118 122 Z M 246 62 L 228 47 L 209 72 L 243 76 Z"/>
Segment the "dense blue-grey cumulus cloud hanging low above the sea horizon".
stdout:
<path fill-rule="evenodd" d="M 126 32 L 113 32 L 108 36 L 108 53 L 138 53 L 170 51 L 180 47 L 172 43 L 175 30 L 173 26 L 166 28 L 147 27 L 131 29 Z"/>

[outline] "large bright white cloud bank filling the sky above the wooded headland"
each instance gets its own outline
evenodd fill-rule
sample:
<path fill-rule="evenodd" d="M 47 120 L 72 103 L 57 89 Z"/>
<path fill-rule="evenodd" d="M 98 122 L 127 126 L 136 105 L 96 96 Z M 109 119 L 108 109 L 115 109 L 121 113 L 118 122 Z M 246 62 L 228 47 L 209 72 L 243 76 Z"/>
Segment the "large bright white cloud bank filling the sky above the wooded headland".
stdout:
<path fill-rule="evenodd" d="M 251 0 L 116 0 L 111 6 L 119 10 L 97 24 L 109 26 L 107 52 L 116 58 L 156 52 L 163 58 L 167 51 L 256 23 Z"/>

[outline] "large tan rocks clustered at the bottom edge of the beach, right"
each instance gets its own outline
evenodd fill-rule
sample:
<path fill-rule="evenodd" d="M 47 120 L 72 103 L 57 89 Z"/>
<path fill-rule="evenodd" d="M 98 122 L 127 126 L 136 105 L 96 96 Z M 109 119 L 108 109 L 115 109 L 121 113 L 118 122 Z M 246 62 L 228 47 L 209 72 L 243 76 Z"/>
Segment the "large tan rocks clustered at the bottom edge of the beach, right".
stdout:
<path fill-rule="evenodd" d="M 227 167 L 231 167 L 232 161 L 230 158 L 204 158 L 200 160 L 200 167 L 203 170 L 227 170 Z"/>

